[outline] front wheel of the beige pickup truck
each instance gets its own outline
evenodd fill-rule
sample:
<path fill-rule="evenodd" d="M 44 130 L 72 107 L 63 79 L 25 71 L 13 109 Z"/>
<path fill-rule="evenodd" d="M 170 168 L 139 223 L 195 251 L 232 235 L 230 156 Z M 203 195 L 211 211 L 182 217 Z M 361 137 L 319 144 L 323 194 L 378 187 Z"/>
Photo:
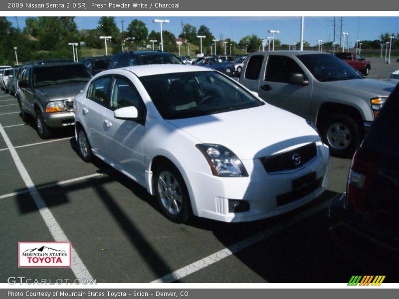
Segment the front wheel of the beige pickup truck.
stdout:
<path fill-rule="evenodd" d="M 321 128 L 323 142 L 333 156 L 351 158 L 361 142 L 359 124 L 345 114 L 328 116 Z"/>

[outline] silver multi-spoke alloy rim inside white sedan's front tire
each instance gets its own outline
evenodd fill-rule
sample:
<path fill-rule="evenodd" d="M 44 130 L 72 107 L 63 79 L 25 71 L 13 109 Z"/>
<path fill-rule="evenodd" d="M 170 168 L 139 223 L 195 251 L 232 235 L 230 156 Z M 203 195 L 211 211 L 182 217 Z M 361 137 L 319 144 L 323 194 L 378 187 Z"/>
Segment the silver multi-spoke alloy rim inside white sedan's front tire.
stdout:
<path fill-rule="evenodd" d="M 162 206 L 172 215 L 182 211 L 183 193 L 176 177 L 169 171 L 162 171 L 157 180 L 158 194 Z"/>

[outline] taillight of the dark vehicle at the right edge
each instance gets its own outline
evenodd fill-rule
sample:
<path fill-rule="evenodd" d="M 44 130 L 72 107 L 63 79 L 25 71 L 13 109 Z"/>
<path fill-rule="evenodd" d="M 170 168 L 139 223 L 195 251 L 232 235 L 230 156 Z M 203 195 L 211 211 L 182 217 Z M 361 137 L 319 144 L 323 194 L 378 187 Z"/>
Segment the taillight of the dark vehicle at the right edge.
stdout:
<path fill-rule="evenodd" d="M 348 209 L 361 214 L 377 167 L 377 155 L 358 149 L 352 159 L 347 184 Z"/>

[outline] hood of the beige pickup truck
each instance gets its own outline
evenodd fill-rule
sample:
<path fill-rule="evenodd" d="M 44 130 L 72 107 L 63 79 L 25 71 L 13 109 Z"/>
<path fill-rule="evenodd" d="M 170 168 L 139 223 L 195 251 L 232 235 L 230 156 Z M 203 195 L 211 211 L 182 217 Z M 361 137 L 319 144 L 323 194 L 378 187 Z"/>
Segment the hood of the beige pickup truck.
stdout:
<path fill-rule="evenodd" d="M 352 79 L 332 82 L 323 82 L 324 88 L 336 91 L 337 88 L 346 90 L 351 94 L 358 95 L 360 93 L 368 93 L 371 97 L 389 96 L 394 90 L 395 85 L 391 82 L 378 79 Z"/>

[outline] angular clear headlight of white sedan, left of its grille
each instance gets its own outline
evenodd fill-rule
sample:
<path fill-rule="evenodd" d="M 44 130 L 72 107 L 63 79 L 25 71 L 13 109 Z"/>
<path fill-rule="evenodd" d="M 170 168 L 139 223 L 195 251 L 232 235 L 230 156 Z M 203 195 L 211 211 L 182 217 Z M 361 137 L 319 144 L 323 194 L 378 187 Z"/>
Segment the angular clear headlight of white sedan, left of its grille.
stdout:
<path fill-rule="evenodd" d="M 221 145 L 196 145 L 205 156 L 212 174 L 223 177 L 248 176 L 241 160 L 230 149 Z"/>

